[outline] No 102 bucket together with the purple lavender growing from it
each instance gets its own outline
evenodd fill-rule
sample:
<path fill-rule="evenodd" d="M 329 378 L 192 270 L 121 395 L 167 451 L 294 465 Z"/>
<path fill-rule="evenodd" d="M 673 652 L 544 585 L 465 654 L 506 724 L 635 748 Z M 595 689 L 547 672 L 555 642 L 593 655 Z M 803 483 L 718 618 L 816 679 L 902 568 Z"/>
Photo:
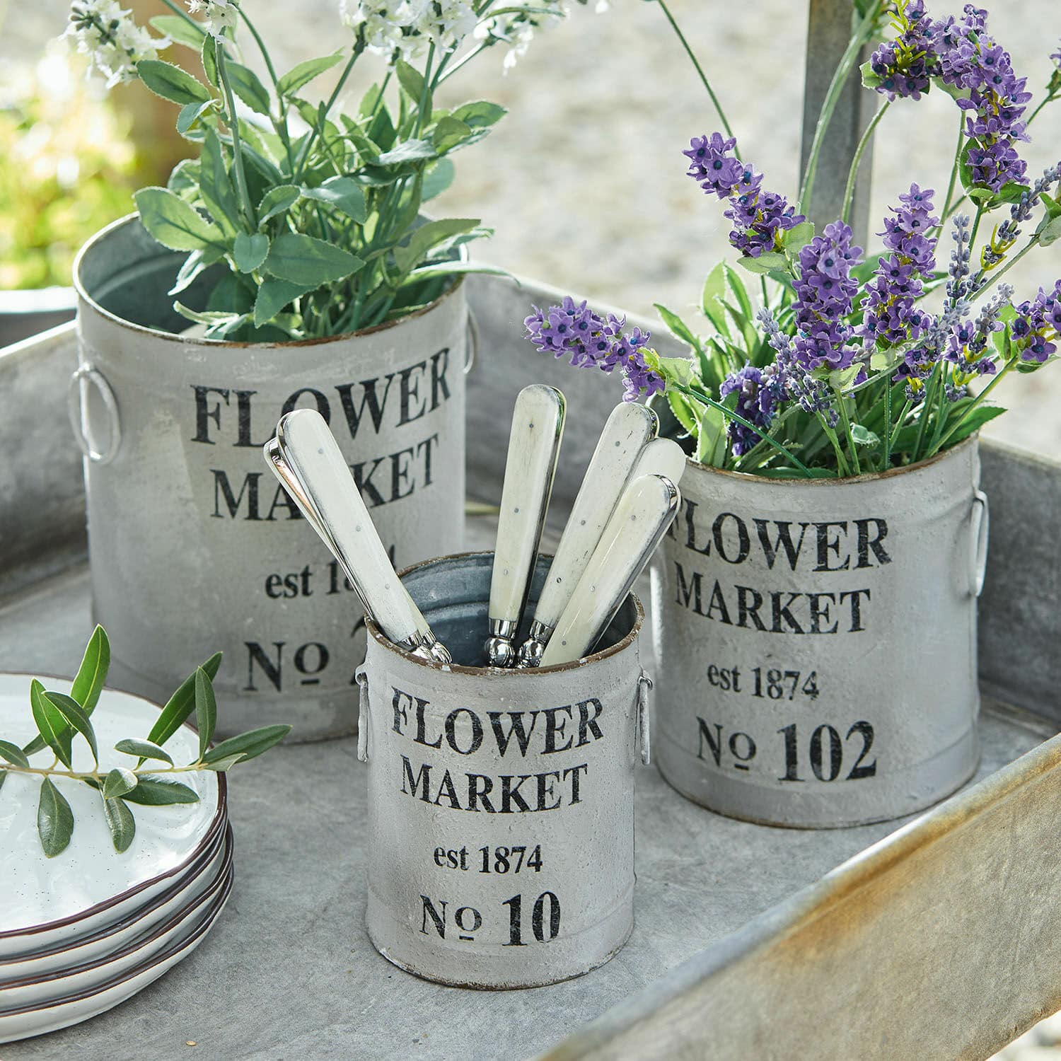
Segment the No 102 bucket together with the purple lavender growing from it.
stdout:
<path fill-rule="evenodd" d="M 1061 280 L 1019 293 L 1006 277 L 1061 238 L 1058 166 L 1036 177 L 1022 156 L 1061 97 L 1061 50 L 1037 100 L 982 8 L 855 8 L 797 197 L 769 190 L 720 109 L 723 131 L 684 152 L 741 266 L 711 271 L 699 327 L 658 307 L 688 356 L 572 299 L 526 321 L 539 350 L 668 406 L 689 452 L 654 570 L 660 769 L 712 810 L 812 828 L 911 813 L 975 770 L 977 432 L 1061 332 Z M 882 105 L 840 216 L 816 230 L 823 129 L 874 36 L 862 73 Z M 949 186 L 915 182 L 911 158 L 867 254 L 851 227 L 866 147 L 930 89 L 959 109 Z"/>

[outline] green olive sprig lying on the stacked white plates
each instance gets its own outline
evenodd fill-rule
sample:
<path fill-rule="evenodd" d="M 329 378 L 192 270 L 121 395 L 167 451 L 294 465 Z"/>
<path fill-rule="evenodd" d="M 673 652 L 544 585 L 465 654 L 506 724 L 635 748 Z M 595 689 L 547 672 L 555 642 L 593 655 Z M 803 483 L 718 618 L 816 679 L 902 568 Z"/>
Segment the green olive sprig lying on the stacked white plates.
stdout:
<path fill-rule="evenodd" d="M 163 807 L 198 801 L 198 792 L 179 780 L 181 773 L 228 770 L 237 763 L 255 759 L 275 747 L 291 732 L 290 726 L 266 726 L 210 747 L 218 723 L 218 701 L 213 678 L 221 664 L 221 653 L 211 656 L 189 675 L 162 709 L 146 738 L 127 737 L 115 745 L 115 750 L 134 756 L 135 765 L 100 766 L 99 747 L 89 715 L 98 706 L 100 692 L 110 662 L 110 644 L 102 627 L 89 638 L 71 693 L 45 689 L 34 679 L 30 685 L 30 712 L 37 726 L 38 738 L 24 748 L 0 737 L 0 789 L 11 773 L 39 777 L 40 794 L 37 805 L 37 834 L 48 857 L 62 854 L 73 834 L 73 812 L 64 798 L 56 780 L 64 784 L 79 782 L 100 794 L 104 819 L 110 830 L 115 850 L 128 850 L 136 837 L 136 820 L 129 804 Z M 173 756 L 161 747 L 181 725 L 195 713 L 198 750 L 193 762 L 176 766 Z M 73 741 L 84 738 L 92 753 L 93 768 L 75 769 Z M 34 762 L 33 755 L 51 750 L 55 763 Z M 144 769 L 153 760 L 166 766 Z M 62 764 L 60 769 L 57 764 Z"/>

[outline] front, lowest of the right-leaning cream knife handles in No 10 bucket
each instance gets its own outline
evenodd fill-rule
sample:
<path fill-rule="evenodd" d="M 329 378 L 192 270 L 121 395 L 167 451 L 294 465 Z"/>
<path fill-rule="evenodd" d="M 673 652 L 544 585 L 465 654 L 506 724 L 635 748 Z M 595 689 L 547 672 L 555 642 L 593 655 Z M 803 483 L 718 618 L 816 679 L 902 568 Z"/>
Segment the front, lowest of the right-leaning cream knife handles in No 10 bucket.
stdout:
<path fill-rule="evenodd" d="M 556 624 L 541 666 L 570 663 L 592 650 L 666 534 L 679 497 L 661 475 L 644 475 L 627 487 Z"/>

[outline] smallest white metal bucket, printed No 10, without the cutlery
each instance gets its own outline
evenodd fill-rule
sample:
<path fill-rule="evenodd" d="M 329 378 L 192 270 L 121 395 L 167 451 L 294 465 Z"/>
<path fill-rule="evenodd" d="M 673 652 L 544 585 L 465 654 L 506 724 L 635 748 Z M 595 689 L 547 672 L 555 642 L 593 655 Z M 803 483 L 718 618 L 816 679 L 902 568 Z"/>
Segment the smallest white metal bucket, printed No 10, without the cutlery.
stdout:
<path fill-rule="evenodd" d="M 485 662 L 492 562 L 473 553 L 403 575 L 458 663 Z M 535 671 L 440 669 L 369 624 L 367 925 L 389 961 L 443 984 L 524 988 L 588 972 L 626 942 L 651 684 L 642 620 L 631 594 L 607 647 Z"/>

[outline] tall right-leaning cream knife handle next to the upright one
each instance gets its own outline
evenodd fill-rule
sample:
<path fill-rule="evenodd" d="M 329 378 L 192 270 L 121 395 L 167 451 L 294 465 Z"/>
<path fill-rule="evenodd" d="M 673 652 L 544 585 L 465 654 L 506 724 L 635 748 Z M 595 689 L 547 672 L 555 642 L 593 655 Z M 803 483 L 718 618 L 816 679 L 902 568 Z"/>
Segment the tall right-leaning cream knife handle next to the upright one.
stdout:
<path fill-rule="evenodd" d="M 552 629 L 575 591 L 611 514 L 619 504 L 630 471 L 646 445 L 655 445 L 659 419 L 644 405 L 624 402 L 608 417 L 590 458 L 578 497 L 556 547 L 553 566 L 535 609 L 535 622 Z"/>

